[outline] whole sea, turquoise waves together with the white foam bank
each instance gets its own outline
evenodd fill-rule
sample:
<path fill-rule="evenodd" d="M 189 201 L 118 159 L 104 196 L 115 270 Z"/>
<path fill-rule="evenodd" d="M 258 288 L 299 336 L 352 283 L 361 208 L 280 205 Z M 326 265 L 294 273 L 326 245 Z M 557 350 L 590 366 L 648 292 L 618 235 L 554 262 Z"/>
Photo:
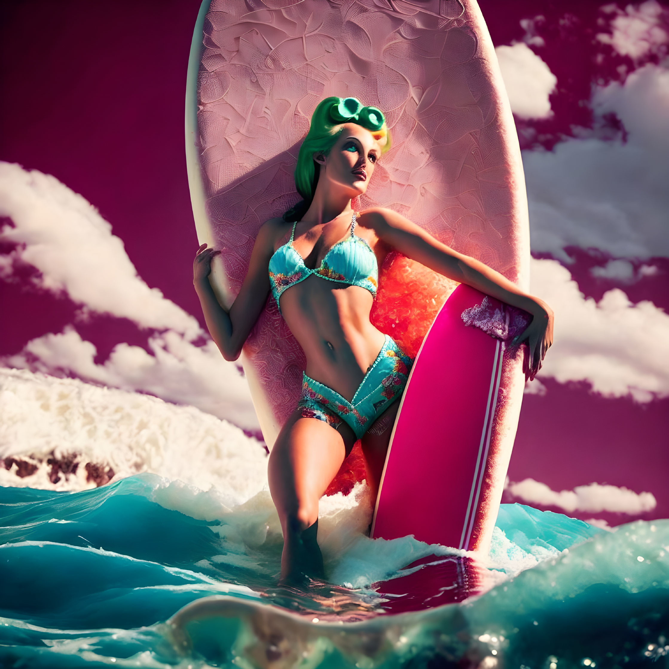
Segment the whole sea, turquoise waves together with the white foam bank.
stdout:
<path fill-rule="evenodd" d="M 571 669 L 668 657 L 668 520 L 605 532 L 502 504 L 490 554 L 472 555 L 369 539 L 371 496 L 357 483 L 320 502 L 328 581 L 288 589 L 266 450 L 240 429 L 6 369 L 0 419 L 2 666 Z"/>

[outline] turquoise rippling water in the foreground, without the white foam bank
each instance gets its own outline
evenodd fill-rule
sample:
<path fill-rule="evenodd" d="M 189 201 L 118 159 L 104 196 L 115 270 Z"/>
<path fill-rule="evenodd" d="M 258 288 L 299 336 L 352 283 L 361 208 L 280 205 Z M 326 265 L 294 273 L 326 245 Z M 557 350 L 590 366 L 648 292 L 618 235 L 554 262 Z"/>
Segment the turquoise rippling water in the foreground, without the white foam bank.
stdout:
<path fill-rule="evenodd" d="M 276 586 L 281 538 L 262 504 L 211 519 L 211 497 L 153 474 L 74 493 L 5 487 L 0 503 L 3 667 L 667 664 L 669 520 L 609 533 L 503 504 L 484 594 L 388 615 L 373 581 L 436 547 L 359 536 L 328 563 L 355 587 L 288 590 Z M 166 623 L 212 596 L 229 617 Z"/>

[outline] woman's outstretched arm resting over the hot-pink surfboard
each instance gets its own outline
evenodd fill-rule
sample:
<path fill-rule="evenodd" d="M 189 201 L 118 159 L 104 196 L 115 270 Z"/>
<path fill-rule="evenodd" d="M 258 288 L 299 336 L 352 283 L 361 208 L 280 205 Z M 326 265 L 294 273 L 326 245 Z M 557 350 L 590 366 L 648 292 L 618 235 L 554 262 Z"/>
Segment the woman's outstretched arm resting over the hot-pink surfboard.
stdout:
<path fill-rule="evenodd" d="M 553 310 L 548 304 L 520 290 L 516 284 L 482 262 L 442 244 L 419 225 L 391 209 L 367 209 L 364 216 L 365 227 L 373 229 L 379 240 L 407 258 L 529 312 L 532 322 L 511 344 L 527 341 L 530 355 L 525 365 L 525 376 L 529 379 L 535 377 L 553 343 Z"/>

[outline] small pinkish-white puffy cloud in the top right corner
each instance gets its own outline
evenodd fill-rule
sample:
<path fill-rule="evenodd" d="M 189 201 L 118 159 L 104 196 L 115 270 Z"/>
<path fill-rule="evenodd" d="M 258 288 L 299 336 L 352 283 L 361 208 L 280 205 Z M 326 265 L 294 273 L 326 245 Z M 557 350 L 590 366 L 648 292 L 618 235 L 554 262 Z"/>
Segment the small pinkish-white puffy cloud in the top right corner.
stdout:
<path fill-rule="evenodd" d="M 665 10 L 656 0 L 647 0 L 638 7 L 628 5 L 624 11 L 615 5 L 606 9 L 616 14 L 611 21 L 611 35 L 599 33 L 597 39 L 610 44 L 621 56 L 638 60 L 650 53 L 661 53 L 669 41 L 662 25 Z"/>

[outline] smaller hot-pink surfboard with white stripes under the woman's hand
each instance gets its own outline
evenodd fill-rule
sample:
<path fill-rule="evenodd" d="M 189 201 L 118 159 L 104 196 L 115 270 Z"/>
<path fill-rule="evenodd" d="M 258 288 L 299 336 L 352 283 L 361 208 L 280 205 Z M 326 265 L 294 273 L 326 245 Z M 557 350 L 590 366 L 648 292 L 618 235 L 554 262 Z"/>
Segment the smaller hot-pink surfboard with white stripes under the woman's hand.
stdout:
<path fill-rule="evenodd" d="M 425 337 L 391 436 L 373 537 L 487 547 L 508 466 L 496 442 L 510 417 L 500 393 L 504 342 L 462 318 L 484 298 L 459 286 Z"/>

